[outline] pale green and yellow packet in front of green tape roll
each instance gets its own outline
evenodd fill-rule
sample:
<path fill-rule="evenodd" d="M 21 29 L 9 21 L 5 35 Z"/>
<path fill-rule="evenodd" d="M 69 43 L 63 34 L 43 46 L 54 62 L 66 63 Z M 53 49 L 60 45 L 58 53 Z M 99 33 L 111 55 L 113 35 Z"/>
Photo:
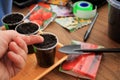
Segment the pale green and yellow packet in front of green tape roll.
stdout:
<path fill-rule="evenodd" d="M 74 32 L 83 26 L 91 23 L 90 19 L 78 19 L 76 17 L 60 17 L 56 18 L 55 22 L 70 32 Z"/>

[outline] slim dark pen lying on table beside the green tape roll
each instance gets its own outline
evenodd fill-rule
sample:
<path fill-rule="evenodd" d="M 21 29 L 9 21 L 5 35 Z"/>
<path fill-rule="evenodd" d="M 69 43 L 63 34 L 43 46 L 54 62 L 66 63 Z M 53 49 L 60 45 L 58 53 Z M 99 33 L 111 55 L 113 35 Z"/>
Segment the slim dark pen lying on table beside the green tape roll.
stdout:
<path fill-rule="evenodd" d="M 90 24 L 90 27 L 88 28 L 88 30 L 86 31 L 86 33 L 84 35 L 84 42 L 88 39 L 88 37 L 89 37 L 89 35 L 90 35 L 91 31 L 92 31 L 93 25 L 94 25 L 97 17 L 98 17 L 98 13 L 96 13 L 96 15 L 95 15 L 92 23 Z"/>

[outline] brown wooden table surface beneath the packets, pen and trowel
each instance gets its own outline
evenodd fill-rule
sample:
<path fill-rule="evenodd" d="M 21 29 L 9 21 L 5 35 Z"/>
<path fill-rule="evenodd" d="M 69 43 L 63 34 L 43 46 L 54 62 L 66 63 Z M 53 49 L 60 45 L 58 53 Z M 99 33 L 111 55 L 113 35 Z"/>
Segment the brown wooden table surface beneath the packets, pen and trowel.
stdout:
<path fill-rule="evenodd" d="M 19 11 L 25 15 L 28 13 L 28 7 L 19 9 L 13 6 L 13 11 Z M 99 16 L 93 27 L 93 30 L 87 40 L 88 43 L 103 45 L 106 48 L 120 47 L 119 43 L 108 37 L 108 5 L 106 4 L 98 10 Z M 75 32 L 68 32 L 55 22 L 52 22 L 44 31 L 55 33 L 60 43 L 63 45 L 70 44 L 71 40 L 83 41 L 83 36 L 88 26 L 83 27 Z M 118 36 L 119 37 L 119 36 Z M 34 74 L 34 73 L 33 73 Z M 40 80 L 76 80 L 78 78 L 61 73 L 58 67 L 53 69 Z M 79 79 L 81 80 L 81 79 Z M 120 54 L 104 53 L 102 61 L 96 76 L 96 80 L 120 80 Z"/>

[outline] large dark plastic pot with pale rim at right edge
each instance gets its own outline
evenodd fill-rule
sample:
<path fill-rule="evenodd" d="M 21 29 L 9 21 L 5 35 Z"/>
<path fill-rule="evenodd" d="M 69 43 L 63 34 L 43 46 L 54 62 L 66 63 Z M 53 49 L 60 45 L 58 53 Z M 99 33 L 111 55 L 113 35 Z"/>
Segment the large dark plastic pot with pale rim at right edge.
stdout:
<path fill-rule="evenodd" d="M 108 36 L 120 43 L 120 0 L 107 0 L 109 3 Z"/>

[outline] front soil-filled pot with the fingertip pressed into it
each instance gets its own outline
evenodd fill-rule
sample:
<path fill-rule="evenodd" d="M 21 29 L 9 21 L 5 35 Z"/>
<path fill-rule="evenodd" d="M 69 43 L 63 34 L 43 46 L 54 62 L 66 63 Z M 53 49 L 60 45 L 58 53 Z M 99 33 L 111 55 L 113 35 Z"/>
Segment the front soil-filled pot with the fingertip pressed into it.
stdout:
<path fill-rule="evenodd" d="M 44 38 L 44 42 L 34 44 L 33 47 L 38 65 L 48 68 L 54 64 L 58 38 L 55 34 L 49 32 L 43 32 L 40 36 Z"/>

